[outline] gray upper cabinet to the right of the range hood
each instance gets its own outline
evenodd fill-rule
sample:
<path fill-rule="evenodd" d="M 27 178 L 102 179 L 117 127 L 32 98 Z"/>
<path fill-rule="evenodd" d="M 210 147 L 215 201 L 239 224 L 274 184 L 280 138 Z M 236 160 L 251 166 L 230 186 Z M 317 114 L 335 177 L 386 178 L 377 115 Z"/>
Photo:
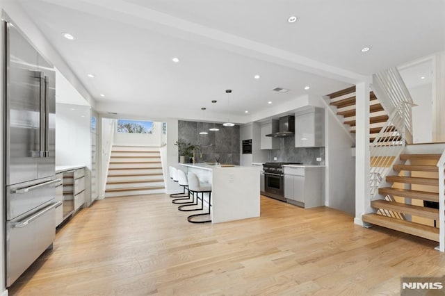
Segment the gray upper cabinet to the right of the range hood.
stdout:
<path fill-rule="evenodd" d="M 325 110 L 314 106 L 295 113 L 295 147 L 325 146 Z"/>

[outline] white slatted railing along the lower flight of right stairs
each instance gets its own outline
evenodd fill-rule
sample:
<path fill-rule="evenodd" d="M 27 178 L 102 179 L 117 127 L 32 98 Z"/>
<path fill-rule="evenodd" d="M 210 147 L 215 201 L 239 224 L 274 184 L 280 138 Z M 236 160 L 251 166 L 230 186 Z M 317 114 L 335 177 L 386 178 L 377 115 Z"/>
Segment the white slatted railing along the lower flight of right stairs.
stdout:
<path fill-rule="evenodd" d="M 405 148 L 405 124 L 403 122 L 405 122 L 405 116 L 407 116 L 405 113 L 407 109 L 405 105 L 407 104 L 410 103 L 406 101 L 398 103 L 371 143 L 369 149 L 369 156 L 371 157 L 369 197 L 371 200 L 375 199 L 380 183 L 385 179 Z M 394 126 L 401 126 L 401 129 L 396 127 L 394 130 Z M 378 176 L 378 178 L 375 176 Z"/>

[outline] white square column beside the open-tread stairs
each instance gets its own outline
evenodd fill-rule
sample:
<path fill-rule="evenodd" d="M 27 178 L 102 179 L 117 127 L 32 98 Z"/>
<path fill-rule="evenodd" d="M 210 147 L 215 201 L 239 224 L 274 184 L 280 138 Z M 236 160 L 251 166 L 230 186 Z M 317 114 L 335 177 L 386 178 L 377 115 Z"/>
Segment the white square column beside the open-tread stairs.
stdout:
<path fill-rule="evenodd" d="M 355 85 L 355 219 L 363 226 L 369 211 L 369 83 Z"/>

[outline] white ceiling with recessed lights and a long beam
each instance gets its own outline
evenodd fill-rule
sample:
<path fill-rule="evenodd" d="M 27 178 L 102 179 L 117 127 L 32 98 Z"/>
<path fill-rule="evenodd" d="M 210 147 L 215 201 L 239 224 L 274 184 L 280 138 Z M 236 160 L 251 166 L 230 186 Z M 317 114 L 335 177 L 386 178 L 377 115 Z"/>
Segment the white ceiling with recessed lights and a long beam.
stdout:
<path fill-rule="evenodd" d="M 19 3 L 104 112 L 119 112 L 121 104 L 126 110 L 134 106 L 135 113 L 145 108 L 147 116 L 170 117 L 171 110 L 195 119 L 202 112 L 230 113 L 247 122 L 270 108 L 268 101 L 276 106 L 305 94 L 328 94 L 445 50 L 442 0 Z M 290 15 L 298 22 L 286 22 Z M 363 54 L 362 47 L 371 51 Z M 172 63 L 173 57 L 180 62 Z M 276 93 L 275 87 L 290 91 Z M 233 90 L 229 104 L 227 88 Z"/>

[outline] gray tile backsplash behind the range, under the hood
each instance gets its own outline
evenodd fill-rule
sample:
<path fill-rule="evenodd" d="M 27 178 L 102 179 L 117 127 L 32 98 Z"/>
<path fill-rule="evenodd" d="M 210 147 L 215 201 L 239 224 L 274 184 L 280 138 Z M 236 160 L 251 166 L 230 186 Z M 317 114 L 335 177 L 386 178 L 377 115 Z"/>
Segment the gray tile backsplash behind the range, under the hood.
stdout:
<path fill-rule="evenodd" d="M 274 157 L 277 159 L 275 160 Z M 320 157 L 321 161 L 316 161 Z M 325 147 L 295 147 L 295 138 L 282 138 L 280 150 L 270 150 L 268 161 L 286 161 L 305 165 L 325 165 Z"/>

